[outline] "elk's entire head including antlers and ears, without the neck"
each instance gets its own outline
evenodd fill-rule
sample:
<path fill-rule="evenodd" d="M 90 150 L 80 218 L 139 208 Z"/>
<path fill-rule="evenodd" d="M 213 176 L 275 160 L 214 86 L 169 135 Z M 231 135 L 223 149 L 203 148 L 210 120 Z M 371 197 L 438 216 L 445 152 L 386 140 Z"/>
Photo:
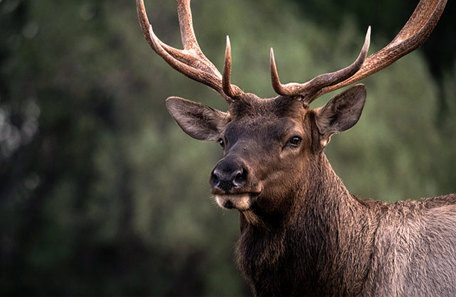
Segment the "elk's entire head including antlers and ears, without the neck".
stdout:
<path fill-rule="evenodd" d="M 222 208 L 241 211 L 247 221 L 261 224 L 281 215 L 293 197 L 311 188 L 313 171 L 334 133 L 358 121 L 366 99 L 362 84 L 347 89 L 326 106 L 310 109 L 321 96 L 365 78 L 419 47 L 440 17 L 446 0 L 421 0 L 404 28 L 386 47 L 367 57 L 370 27 L 362 50 L 347 68 L 325 73 L 306 83 L 280 83 L 270 50 L 272 86 L 279 96 L 260 99 L 231 84 L 231 49 L 227 36 L 223 74 L 204 56 L 192 26 L 190 0 L 176 0 L 184 49 L 155 36 L 143 0 L 136 0 L 147 42 L 171 67 L 214 89 L 229 104 L 228 112 L 178 97 L 166 100 L 177 124 L 198 140 L 218 141 L 223 158 L 210 173 L 212 194 Z"/>

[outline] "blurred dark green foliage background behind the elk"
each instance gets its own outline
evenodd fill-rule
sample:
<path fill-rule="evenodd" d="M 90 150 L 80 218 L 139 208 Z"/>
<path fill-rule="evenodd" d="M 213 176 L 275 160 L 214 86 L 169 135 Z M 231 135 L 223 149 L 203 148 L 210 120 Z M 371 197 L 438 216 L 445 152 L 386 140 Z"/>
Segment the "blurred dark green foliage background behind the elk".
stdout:
<path fill-rule="evenodd" d="M 418 0 L 194 0 L 203 52 L 261 97 L 274 47 L 304 82 L 392 40 Z M 180 46 L 175 3 L 146 0 Z M 363 80 L 361 120 L 326 153 L 347 188 L 394 201 L 456 192 L 456 12 L 419 50 Z M 339 91 L 340 92 L 340 91 Z M 133 0 L 0 0 L 0 295 L 236 296 L 238 214 L 215 205 L 216 143 L 172 121 L 169 96 L 226 110 L 144 40 Z M 316 100 L 326 103 L 333 94 Z"/>

